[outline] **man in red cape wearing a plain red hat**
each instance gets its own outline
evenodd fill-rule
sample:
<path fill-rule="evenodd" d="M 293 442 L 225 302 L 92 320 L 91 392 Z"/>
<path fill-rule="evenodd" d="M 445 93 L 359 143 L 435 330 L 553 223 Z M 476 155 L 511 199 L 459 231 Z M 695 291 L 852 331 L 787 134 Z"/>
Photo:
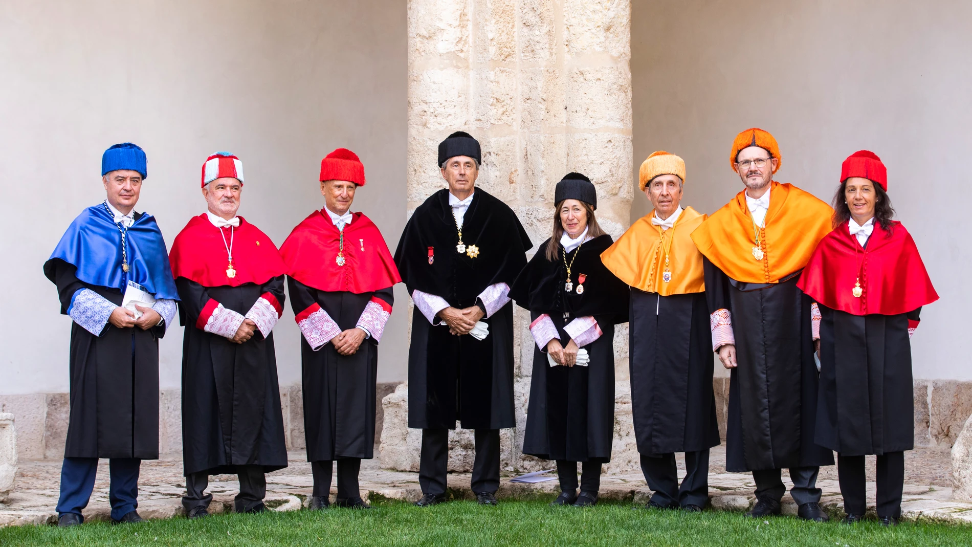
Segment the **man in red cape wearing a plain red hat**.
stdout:
<path fill-rule="evenodd" d="M 362 459 L 374 457 L 378 342 L 401 281 L 378 227 L 352 213 L 364 187 L 358 155 L 337 149 L 321 161 L 325 206 L 297 224 L 280 253 L 287 262 L 300 353 L 307 461 L 314 473 L 311 509 L 330 505 L 332 462 L 337 500 L 368 508 L 358 488 Z"/>

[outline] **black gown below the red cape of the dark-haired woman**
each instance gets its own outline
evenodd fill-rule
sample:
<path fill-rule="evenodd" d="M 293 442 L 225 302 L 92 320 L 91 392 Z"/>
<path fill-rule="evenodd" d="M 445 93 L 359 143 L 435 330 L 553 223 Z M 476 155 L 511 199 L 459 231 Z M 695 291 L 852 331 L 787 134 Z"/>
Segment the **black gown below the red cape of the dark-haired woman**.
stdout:
<path fill-rule="evenodd" d="M 816 444 L 841 456 L 915 448 L 915 393 L 908 320 L 820 308 Z"/>

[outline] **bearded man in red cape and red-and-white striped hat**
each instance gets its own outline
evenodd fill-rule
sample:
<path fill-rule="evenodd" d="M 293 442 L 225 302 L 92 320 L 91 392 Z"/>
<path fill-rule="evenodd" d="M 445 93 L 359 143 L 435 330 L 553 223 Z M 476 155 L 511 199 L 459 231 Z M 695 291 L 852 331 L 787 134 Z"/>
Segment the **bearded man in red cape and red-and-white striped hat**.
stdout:
<path fill-rule="evenodd" d="M 236 473 L 237 513 L 265 510 L 264 473 L 287 466 L 273 326 L 283 312 L 286 266 L 257 226 L 236 216 L 243 164 L 210 155 L 202 166 L 206 213 L 172 244 L 183 336 L 183 465 L 189 518 L 208 515 L 209 475 Z"/>

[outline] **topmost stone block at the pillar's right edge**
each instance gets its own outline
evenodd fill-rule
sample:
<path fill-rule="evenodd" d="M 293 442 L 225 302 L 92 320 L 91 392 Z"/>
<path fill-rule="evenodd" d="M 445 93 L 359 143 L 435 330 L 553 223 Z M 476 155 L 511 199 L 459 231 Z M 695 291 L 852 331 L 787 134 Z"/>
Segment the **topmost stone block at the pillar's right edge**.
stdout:
<path fill-rule="evenodd" d="M 564 0 L 564 48 L 568 59 L 608 53 L 631 58 L 630 0 Z"/>

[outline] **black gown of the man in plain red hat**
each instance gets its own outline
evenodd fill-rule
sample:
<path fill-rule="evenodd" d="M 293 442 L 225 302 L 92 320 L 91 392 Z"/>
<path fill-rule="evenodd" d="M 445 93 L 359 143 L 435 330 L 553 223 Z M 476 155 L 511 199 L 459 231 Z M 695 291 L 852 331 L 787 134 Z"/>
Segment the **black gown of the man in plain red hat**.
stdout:
<path fill-rule="evenodd" d="M 395 304 L 391 287 L 363 293 L 319 291 L 292 277 L 287 285 L 295 314 L 317 302 L 342 331 L 358 325 L 371 296 Z M 378 342 L 365 338 L 358 352 L 342 356 L 330 342 L 315 352 L 300 336 L 300 368 L 307 461 L 373 458 Z"/>

